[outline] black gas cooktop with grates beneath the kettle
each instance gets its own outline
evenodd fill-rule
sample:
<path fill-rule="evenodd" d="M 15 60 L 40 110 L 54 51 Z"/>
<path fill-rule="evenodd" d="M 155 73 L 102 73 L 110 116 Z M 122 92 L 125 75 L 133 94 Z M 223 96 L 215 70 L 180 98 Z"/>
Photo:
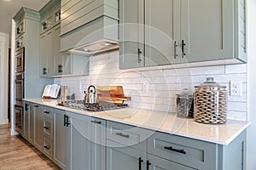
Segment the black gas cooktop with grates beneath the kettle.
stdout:
<path fill-rule="evenodd" d="M 115 109 L 126 108 L 129 105 L 127 104 L 115 104 L 109 102 L 99 102 L 95 104 L 84 104 L 84 100 L 67 100 L 61 101 L 58 105 L 64 107 L 69 107 L 73 109 L 78 109 L 82 111 L 110 111 Z"/>

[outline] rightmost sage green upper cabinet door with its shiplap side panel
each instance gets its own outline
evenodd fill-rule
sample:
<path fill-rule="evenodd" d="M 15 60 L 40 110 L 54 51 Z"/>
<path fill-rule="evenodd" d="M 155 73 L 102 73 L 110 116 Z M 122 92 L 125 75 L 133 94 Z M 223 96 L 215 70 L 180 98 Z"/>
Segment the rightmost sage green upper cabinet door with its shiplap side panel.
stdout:
<path fill-rule="evenodd" d="M 247 60 L 246 1 L 182 0 L 179 48 L 188 62 Z M 185 60 L 185 61 L 186 61 Z"/>

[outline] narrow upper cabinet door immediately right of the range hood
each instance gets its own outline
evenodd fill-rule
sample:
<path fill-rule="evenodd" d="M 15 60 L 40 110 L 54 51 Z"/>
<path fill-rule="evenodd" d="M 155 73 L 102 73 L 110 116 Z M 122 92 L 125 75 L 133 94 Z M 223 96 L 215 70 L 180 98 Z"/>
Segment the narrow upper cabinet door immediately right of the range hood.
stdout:
<path fill-rule="evenodd" d="M 119 1 L 119 68 L 144 66 L 143 0 Z"/>

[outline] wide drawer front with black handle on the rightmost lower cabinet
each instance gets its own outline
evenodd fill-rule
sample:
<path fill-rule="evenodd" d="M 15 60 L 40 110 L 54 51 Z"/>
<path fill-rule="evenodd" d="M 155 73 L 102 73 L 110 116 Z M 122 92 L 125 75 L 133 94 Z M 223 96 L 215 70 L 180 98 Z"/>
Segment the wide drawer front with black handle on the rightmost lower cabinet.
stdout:
<path fill-rule="evenodd" d="M 199 169 L 216 168 L 217 148 L 217 144 L 167 133 L 156 132 L 148 138 L 149 154 Z"/>

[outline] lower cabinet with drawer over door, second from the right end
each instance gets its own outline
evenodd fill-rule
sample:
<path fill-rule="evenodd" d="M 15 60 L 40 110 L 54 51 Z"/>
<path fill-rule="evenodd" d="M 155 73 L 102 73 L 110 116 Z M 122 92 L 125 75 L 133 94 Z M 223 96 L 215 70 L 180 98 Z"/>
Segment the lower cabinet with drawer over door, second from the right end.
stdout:
<path fill-rule="evenodd" d="M 107 122 L 107 170 L 146 170 L 147 130 Z"/>

